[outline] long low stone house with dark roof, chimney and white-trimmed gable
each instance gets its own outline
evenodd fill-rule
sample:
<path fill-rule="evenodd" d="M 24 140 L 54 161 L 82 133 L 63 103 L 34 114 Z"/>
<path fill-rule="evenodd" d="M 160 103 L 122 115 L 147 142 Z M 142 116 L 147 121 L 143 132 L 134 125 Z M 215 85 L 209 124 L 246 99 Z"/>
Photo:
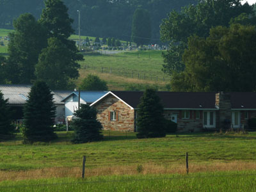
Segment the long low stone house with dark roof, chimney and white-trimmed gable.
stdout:
<path fill-rule="evenodd" d="M 138 104 L 143 92 L 108 92 L 94 106 L 105 130 L 137 131 Z M 241 128 L 256 117 L 256 93 L 157 92 L 164 117 L 177 123 L 179 132 Z"/>

